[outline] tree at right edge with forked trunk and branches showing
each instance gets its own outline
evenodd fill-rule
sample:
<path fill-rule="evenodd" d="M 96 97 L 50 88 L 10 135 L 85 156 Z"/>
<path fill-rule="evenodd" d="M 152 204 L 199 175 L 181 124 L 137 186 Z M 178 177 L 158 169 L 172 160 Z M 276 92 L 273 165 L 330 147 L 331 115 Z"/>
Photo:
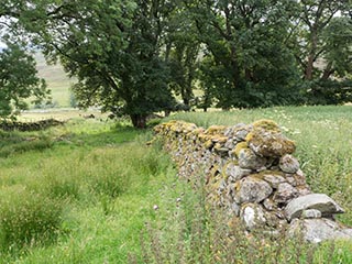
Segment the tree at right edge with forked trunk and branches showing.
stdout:
<path fill-rule="evenodd" d="M 336 105 L 351 100 L 352 18 L 345 0 L 299 1 L 287 42 L 306 81 L 306 100 Z"/>

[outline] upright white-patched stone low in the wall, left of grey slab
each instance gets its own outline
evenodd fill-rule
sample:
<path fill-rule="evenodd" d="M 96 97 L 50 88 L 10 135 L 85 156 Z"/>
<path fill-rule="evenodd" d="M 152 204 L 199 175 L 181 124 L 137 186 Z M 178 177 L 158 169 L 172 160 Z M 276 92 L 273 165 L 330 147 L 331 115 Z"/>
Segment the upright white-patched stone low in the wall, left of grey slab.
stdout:
<path fill-rule="evenodd" d="M 242 207 L 240 218 L 248 230 L 263 227 L 266 222 L 263 208 L 256 204 L 248 204 Z"/>

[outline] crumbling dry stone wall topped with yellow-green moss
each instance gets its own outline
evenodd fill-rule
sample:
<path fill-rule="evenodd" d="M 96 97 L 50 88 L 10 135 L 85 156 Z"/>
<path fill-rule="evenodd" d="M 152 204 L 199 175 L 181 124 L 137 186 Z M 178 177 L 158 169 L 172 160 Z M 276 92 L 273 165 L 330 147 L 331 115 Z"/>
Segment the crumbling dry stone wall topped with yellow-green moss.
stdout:
<path fill-rule="evenodd" d="M 204 129 L 169 121 L 154 130 L 179 176 L 200 177 L 208 201 L 240 218 L 248 230 L 301 230 L 311 242 L 352 238 L 352 229 L 333 219 L 343 209 L 327 195 L 311 193 L 293 156 L 295 143 L 275 122 Z"/>

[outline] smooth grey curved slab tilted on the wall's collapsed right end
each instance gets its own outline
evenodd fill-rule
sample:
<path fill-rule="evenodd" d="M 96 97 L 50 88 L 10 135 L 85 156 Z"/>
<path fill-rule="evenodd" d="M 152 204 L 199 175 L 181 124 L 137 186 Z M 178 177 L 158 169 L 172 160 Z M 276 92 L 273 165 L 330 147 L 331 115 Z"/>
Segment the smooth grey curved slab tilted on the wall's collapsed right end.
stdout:
<path fill-rule="evenodd" d="M 317 209 L 322 217 L 329 217 L 334 213 L 344 212 L 343 209 L 329 196 L 324 194 L 310 194 L 293 199 L 285 208 L 288 221 L 294 218 L 300 218 L 301 212 L 308 209 Z"/>

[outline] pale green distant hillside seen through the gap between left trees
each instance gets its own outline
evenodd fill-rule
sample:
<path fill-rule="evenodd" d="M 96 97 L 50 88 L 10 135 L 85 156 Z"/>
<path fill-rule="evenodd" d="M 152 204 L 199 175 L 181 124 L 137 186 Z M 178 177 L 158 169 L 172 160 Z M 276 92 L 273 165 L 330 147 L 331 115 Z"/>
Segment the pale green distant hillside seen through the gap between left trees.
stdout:
<path fill-rule="evenodd" d="M 75 82 L 75 79 L 68 78 L 62 65 L 47 65 L 42 53 L 35 55 L 35 61 L 38 76 L 46 80 L 48 88 L 52 90 L 55 107 L 70 107 L 69 87 Z"/>

